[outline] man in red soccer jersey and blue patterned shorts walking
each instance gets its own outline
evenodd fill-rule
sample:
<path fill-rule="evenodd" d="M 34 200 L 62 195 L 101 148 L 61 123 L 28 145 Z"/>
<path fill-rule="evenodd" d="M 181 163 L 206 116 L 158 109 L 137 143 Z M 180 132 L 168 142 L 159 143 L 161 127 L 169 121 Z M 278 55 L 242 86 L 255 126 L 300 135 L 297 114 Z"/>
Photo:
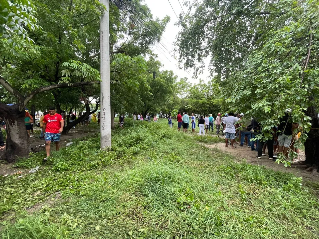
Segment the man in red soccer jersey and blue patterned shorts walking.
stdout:
<path fill-rule="evenodd" d="M 64 120 L 62 115 L 56 113 L 55 107 L 49 108 L 49 113 L 43 118 L 43 132 L 45 132 L 45 151 L 47 156 L 43 159 L 43 162 L 48 160 L 50 156 L 50 144 L 56 142 L 56 151 L 60 149 L 60 135 L 63 130 Z"/>

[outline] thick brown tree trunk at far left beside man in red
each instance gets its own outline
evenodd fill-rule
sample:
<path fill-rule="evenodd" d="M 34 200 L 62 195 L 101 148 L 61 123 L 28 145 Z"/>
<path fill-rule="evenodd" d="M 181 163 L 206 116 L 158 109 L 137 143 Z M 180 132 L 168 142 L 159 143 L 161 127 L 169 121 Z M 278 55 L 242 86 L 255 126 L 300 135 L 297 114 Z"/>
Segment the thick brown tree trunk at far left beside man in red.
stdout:
<path fill-rule="evenodd" d="M 19 111 L 19 105 L 0 104 L 1 116 L 6 124 L 6 151 L 2 159 L 12 163 L 18 156 L 28 157 L 31 152 L 29 137 L 24 124 L 25 111 Z"/>

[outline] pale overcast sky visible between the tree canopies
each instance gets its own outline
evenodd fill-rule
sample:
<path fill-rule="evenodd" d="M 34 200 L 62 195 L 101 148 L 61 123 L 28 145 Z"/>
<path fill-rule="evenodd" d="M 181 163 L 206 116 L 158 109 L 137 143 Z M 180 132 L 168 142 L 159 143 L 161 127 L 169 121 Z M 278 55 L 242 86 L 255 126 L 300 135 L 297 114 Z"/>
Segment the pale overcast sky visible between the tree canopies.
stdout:
<path fill-rule="evenodd" d="M 180 3 L 182 4 L 183 10 L 186 12 L 186 7 L 183 6 L 183 1 L 184 0 L 179 0 Z M 174 73 L 179 77 L 187 77 L 189 79 L 190 83 L 198 83 L 199 78 L 203 79 L 205 82 L 208 82 L 210 80 L 210 73 L 207 70 L 207 64 L 206 64 L 206 69 L 204 70 L 203 74 L 198 75 L 197 79 L 191 78 L 193 76 L 193 69 L 179 69 L 177 60 L 174 59 L 174 45 L 173 42 L 176 40 L 176 35 L 181 30 L 180 27 L 174 25 L 177 21 L 178 18 L 176 17 L 171 5 L 176 13 L 177 16 L 182 12 L 181 5 L 179 4 L 178 0 L 145 0 L 141 4 L 146 4 L 150 9 L 153 14 L 153 19 L 156 19 L 159 17 L 160 19 L 164 18 L 166 15 L 170 16 L 171 20 L 167 24 L 167 27 L 165 29 L 165 32 L 163 33 L 161 42 L 162 44 L 170 51 L 170 54 L 164 49 L 164 47 L 160 44 L 159 47 L 152 47 L 152 50 L 155 54 L 158 54 L 158 60 L 162 62 L 164 67 L 162 68 L 163 70 L 173 70 Z M 176 57 L 177 59 L 178 57 Z M 206 61 L 207 62 L 207 61 Z"/>

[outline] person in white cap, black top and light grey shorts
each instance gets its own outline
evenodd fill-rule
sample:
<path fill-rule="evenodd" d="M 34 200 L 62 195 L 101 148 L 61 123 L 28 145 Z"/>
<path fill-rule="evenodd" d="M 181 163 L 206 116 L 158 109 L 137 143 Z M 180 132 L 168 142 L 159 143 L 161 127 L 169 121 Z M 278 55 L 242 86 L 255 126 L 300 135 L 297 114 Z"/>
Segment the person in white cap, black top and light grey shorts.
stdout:
<path fill-rule="evenodd" d="M 280 120 L 280 124 L 278 126 L 278 144 L 279 144 L 279 152 L 284 153 L 284 155 L 288 156 L 288 149 L 291 145 L 291 140 L 293 138 L 293 123 L 291 118 L 291 109 L 285 110 L 285 115 Z"/>

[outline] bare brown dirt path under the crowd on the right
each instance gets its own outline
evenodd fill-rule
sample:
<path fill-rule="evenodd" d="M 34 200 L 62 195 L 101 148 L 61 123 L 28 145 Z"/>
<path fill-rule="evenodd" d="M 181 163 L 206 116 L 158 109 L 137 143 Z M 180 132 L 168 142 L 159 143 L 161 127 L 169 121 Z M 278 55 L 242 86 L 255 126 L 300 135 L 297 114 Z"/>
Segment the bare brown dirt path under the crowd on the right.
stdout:
<path fill-rule="evenodd" d="M 262 156 L 262 159 L 257 159 L 256 158 L 257 152 L 251 151 L 250 147 L 246 145 L 244 147 L 239 147 L 237 145 L 237 148 L 231 148 L 231 147 L 226 148 L 225 143 L 205 144 L 205 146 L 208 148 L 216 149 L 218 151 L 227 152 L 231 154 L 232 156 L 234 156 L 234 160 L 236 162 L 241 162 L 242 159 L 245 159 L 247 163 L 250 163 L 250 164 L 263 165 L 275 171 L 280 170 L 283 172 L 293 173 L 294 175 L 296 175 L 296 177 L 303 177 L 304 179 L 309 181 L 319 181 L 319 177 L 317 177 L 316 175 L 312 175 L 311 173 L 309 173 L 308 171 L 306 171 L 305 169 L 301 167 L 293 167 L 293 166 L 291 168 L 285 167 L 282 163 L 277 164 L 273 162 L 272 160 L 269 160 L 267 149 L 266 149 L 266 156 Z M 299 157 L 304 160 L 305 152 L 300 150 Z"/>

